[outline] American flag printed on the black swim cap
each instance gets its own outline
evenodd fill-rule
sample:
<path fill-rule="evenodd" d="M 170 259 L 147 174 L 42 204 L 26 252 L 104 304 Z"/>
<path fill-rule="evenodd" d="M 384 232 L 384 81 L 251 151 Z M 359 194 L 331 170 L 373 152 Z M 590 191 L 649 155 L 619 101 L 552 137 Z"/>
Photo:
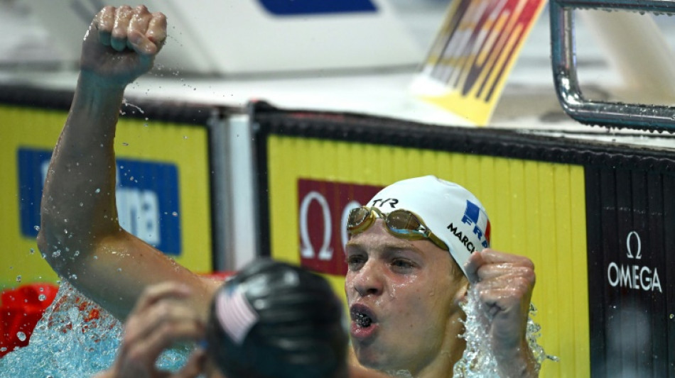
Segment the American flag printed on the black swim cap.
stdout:
<path fill-rule="evenodd" d="M 221 290 L 215 299 L 215 311 L 220 326 L 236 344 L 242 344 L 259 316 L 241 287 Z"/>

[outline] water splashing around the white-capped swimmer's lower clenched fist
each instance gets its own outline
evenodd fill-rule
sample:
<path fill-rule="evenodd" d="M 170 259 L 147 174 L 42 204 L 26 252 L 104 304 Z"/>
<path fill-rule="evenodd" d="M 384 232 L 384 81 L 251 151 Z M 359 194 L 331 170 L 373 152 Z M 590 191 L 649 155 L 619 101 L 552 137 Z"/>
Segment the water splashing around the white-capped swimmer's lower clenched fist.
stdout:
<path fill-rule="evenodd" d="M 468 291 L 468 300 L 462 304 L 466 313 L 464 321 L 465 332 L 461 335 L 466 340 L 466 349 L 462 358 L 453 368 L 453 377 L 465 378 L 499 378 L 497 360 L 490 348 L 490 335 L 487 334 L 487 319 L 480 311 L 480 299 L 477 291 Z M 530 304 L 527 318 L 526 339 L 532 354 L 536 360 L 536 370 L 539 372 L 544 360 L 558 361 L 558 357 L 547 355 L 544 348 L 537 343 L 541 336 L 541 326 L 532 320 L 536 316 L 536 308 Z"/>

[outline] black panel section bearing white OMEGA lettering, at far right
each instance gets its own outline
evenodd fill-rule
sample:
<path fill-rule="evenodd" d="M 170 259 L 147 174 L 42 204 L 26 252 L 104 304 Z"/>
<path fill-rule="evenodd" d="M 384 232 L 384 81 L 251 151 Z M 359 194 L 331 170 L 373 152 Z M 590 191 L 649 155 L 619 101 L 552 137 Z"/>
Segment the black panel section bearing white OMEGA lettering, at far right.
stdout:
<path fill-rule="evenodd" d="M 675 179 L 586 167 L 592 377 L 673 377 Z"/>

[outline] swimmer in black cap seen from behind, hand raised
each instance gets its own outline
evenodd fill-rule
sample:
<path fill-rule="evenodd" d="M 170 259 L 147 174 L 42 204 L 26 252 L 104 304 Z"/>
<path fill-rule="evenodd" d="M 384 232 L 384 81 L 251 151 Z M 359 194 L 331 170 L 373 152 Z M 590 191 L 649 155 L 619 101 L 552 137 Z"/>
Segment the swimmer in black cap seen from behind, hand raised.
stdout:
<path fill-rule="evenodd" d="M 113 366 L 95 378 L 381 377 L 349 373 L 342 303 L 317 274 L 284 262 L 252 262 L 218 289 L 206 324 L 185 301 L 189 296 L 175 282 L 146 289 L 126 321 Z M 205 349 L 178 372 L 158 371 L 160 353 L 186 340 L 205 340 Z"/>

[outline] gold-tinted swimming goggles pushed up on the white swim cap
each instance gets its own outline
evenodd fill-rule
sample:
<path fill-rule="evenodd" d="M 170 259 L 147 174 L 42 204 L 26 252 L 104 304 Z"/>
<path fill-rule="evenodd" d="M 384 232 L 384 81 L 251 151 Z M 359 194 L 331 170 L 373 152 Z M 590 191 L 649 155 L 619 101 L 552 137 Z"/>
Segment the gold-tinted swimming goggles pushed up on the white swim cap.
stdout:
<path fill-rule="evenodd" d="M 415 213 L 408 210 L 394 210 L 391 213 L 382 213 L 376 207 L 361 206 L 352 209 L 347 217 L 347 233 L 356 235 L 367 230 L 375 222 L 376 218 L 382 218 L 389 233 L 397 238 L 407 240 L 428 239 L 442 250 L 450 250 L 443 240 L 434 235 L 424 222 Z"/>

